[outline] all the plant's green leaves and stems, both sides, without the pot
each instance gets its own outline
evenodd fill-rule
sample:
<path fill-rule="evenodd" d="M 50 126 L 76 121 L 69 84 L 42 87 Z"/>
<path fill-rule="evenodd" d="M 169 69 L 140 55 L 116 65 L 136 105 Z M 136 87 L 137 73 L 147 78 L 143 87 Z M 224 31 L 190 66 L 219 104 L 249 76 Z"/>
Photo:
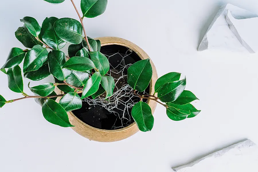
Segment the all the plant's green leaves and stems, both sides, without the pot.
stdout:
<path fill-rule="evenodd" d="M 44 1 L 53 4 L 64 2 Z M 71 2 L 73 3 L 73 0 Z M 82 23 L 84 17 L 101 15 L 106 6 L 107 0 L 81 0 L 83 17 L 74 5 L 81 23 L 72 18 L 46 17 L 40 27 L 36 19 L 24 17 L 21 19 L 24 26 L 15 32 L 16 38 L 30 50 L 12 48 L 1 71 L 7 74 L 9 89 L 24 95 L 20 99 L 35 98 L 42 106 L 44 118 L 53 124 L 71 127 L 67 112 L 81 108 L 82 99 L 89 96 L 95 99 L 103 93 L 108 98 L 113 94 L 114 78 L 106 75 L 110 70 L 109 61 L 100 52 L 100 41 L 86 36 Z M 69 57 L 60 51 L 66 43 L 71 44 L 68 47 Z M 23 60 L 21 71 L 19 64 Z M 25 78 L 32 81 L 39 81 L 52 74 L 55 83 L 44 83 L 34 87 L 30 87 L 29 83 L 28 87 L 34 93 L 34 96 L 29 96 L 23 91 L 22 72 Z M 136 93 L 143 92 L 148 87 L 152 72 L 149 59 L 140 60 L 128 68 L 127 82 L 133 88 L 134 94 L 141 98 L 132 108 L 132 117 L 141 131 L 150 131 L 154 124 L 151 108 L 142 99 L 164 102 L 165 104 L 161 104 L 166 107 L 167 116 L 175 121 L 192 118 L 200 112 L 190 104 L 198 98 L 191 91 L 185 90 L 186 78 L 179 80 L 180 73 L 171 72 L 160 77 L 155 84 L 154 95 Z M 56 86 L 66 94 L 56 95 Z M 78 93 L 82 95 L 79 96 Z M 56 98 L 61 96 L 57 103 Z M 20 99 L 6 101 L 0 95 L 0 107 Z"/>

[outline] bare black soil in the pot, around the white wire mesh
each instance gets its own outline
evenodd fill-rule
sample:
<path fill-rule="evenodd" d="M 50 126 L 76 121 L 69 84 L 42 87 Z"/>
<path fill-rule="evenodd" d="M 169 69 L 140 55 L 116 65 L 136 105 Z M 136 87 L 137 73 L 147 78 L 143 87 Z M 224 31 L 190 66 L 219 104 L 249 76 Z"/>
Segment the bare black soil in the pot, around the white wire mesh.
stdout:
<path fill-rule="evenodd" d="M 120 64 L 123 57 L 124 58 L 124 64 L 133 64 L 140 59 L 140 57 L 133 52 L 132 50 L 129 50 L 129 48 L 120 46 L 120 45 L 106 45 L 101 47 L 101 53 L 105 54 L 107 58 L 109 58 L 110 62 L 110 70 L 111 71 L 119 71 L 116 67 Z M 118 53 L 119 52 L 119 53 Z M 130 55 L 128 55 L 130 54 Z M 114 69 L 116 68 L 116 69 Z M 127 75 L 127 69 L 124 70 L 124 75 Z M 114 78 L 119 78 L 122 76 L 122 74 L 116 74 L 114 72 L 111 72 L 111 76 Z M 115 81 L 116 82 L 116 81 Z M 120 89 L 123 85 L 127 84 L 126 77 L 123 79 L 120 79 L 119 82 L 116 84 L 116 87 Z M 115 87 L 114 92 L 117 91 L 117 88 Z M 146 91 L 149 91 L 149 87 L 146 89 Z M 104 96 L 104 95 L 101 95 Z M 126 97 L 122 97 L 122 99 L 126 99 Z M 136 101 L 139 101 L 140 99 L 138 97 L 134 97 Z M 119 116 L 123 115 L 123 111 L 125 106 L 122 104 L 118 104 L 117 109 L 113 109 L 115 112 L 118 112 Z M 121 109 L 121 110 L 120 110 Z M 122 120 L 119 118 L 118 114 L 114 112 L 108 112 L 104 107 L 99 105 L 89 105 L 87 102 L 83 101 L 83 105 L 81 109 L 72 111 L 77 118 L 79 118 L 84 123 L 95 127 L 99 129 L 104 130 L 114 130 L 114 129 L 120 129 L 124 128 L 134 122 L 132 115 L 131 115 L 130 108 L 128 112 L 126 112 L 125 117 L 122 118 Z"/>

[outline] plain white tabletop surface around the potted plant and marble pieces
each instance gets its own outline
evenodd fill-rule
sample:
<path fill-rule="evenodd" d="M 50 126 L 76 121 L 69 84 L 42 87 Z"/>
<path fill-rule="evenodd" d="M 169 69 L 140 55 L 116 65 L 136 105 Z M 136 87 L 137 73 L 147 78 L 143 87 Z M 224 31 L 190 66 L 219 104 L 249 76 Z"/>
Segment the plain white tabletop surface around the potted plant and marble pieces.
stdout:
<path fill-rule="evenodd" d="M 75 3 L 79 8 L 79 0 Z M 258 55 L 197 51 L 220 5 L 226 3 L 258 13 L 257 0 L 108 0 L 103 15 L 84 20 L 90 37 L 117 36 L 140 46 L 159 76 L 171 71 L 185 74 L 186 89 L 200 99 L 195 103 L 202 110 L 197 117 L 174 122 L 158 105 L 151 132 L 99 143 L 50 124 L 34 100 L 17 101 L 0 110 L 1 171 L 165 172 L 246 138 L 258 143 Z M 22 17 L 32 16 L 40 24 L 51 16 L 78 19 L 69 0 L 59 5 L 4 1 L 0 15 L 1 65 L 12 47 L 24 48 L 14 35 L 23 25 Z M 19 98 L 8 89 L 3 73 L 0 78 L 0 94 Z M 26 93 L 28 81 L 24 80 Z"/>

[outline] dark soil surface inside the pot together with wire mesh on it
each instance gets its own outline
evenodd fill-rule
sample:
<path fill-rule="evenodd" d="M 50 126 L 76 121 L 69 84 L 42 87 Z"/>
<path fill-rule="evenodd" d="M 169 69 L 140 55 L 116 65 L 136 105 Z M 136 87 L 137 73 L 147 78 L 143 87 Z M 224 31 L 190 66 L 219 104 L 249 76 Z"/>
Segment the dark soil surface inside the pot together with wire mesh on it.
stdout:
<path fill-rule="evenodd" d="M 130 101 L 135 103 L 140 99 L 135 96 L 128 97 L 132 95 L 130 91 L 128 91 L 128 89 L 121 91 L 121 88 L 124 88 L 124 86 L 127 85 L 127 77 L 125 75 L 127 75 L 127 69 L 130 64 L 133 64 L 141 59 L 135 52 L 120 45 L 102 46 L 100 51 L 109 59 L 110 71 L 108 74 L 115 79 L 116 83 L 114 93 L 120 90 L 123 96 L 120 96 L 121 94 L 118 95 L 119 102 L 115 105 L 115 107 L 114 105 L 107 105 L 106 107 L 103 107 L 101 103 L 93 104 L 92 99 L 87 99 L 87 101 L 83 101 L 81 109 L 74 110 L 72 112 L 81 121 L 95 128 L 104 130 L 124 128 L 134 122 L 131 115 L 132 107 L 126 108 L 125 110 L 125 107 L 128 106 L 128 104 L 124 102 L 129 102 L 130 104 Z M 149 87 L 146 89 L 146 92 L 149 92 Z M 98 97 L 98 99 L 104 98 L 105 93 Z M 144 99 L 144 101 L 146 102 L 146 99 Z M 107 108 L 110 108 L 110 106 L 112 106 L 112 112 L 107 110 Z"/>

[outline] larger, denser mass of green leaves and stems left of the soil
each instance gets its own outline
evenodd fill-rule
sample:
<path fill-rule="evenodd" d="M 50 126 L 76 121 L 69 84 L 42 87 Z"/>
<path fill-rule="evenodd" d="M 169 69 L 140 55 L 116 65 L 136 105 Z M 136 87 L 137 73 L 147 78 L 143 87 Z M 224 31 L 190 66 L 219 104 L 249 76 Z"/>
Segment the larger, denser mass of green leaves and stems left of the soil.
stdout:
<path fill-rule="evenodd" d="M 64 0 L 45 1 L 58 4 Z M 102 14 L 106 5 L 107 0 L 81 0 L 83 17 L 91 18 Z M 84 28 L 79 21 L 72 18 L 46 17 L 40 26 L 33 17 L 24 17 L 21 22 L 24 26 L 17 29 L 15 36 L 30 50 L 12 48 L 1 71 L 7 74 L 9 89 L 24 95 L 20 99 L 35 98 L 42 106 L 46 120 L 62 127 L 71 127 L 67 112 L 81 108 L 82 99 L 89 96 L 94 98 L 104 92 L 106 98 L 112 95 L 114 79 L 105 76 L 110 69 L 109 61 L 100 52 L 99 40 L 83 36 Z M 66 43 L 71 44 L 68 48 L 69 57 L 60 50 Z M 19 64 L 23 60 L 21 70 Z M 55 83 L 34 87 L 30 87 L 29 83 L 28 87 L 34 93 L 34 96 L 29 96 L 24 93 L 22 73 L 32 81 L 40 81 L 52 74 Z M 56 95 L 56 86 L 66 94 Z M 96 93 L 99 88 L 101 93 Z M 79 92 L 82 93 L 81 97 Z M 56 98 L 61 96 L 57 103 Z M 0 107 L 20 99 L 6 101 L 0 95 Z"/>

